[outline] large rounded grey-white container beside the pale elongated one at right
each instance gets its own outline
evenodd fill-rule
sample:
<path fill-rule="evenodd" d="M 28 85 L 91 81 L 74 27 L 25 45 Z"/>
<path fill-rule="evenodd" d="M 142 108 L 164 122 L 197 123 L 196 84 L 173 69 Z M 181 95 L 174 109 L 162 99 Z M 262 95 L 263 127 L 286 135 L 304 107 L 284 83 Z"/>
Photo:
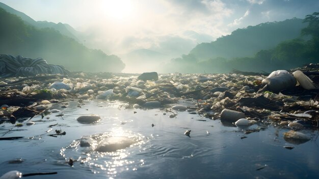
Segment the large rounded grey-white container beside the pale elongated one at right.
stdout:
<path fill-rule="evenodd" d="M 280 92 L 296 86 L 296 79 L 286 70 L 277 70 L 270 73 L 270 75 L 263 79 L 261 84 L 265 85 L 264 90 L 272 92 Z M 267 85 L 267 86 L 266 86 Z"/>

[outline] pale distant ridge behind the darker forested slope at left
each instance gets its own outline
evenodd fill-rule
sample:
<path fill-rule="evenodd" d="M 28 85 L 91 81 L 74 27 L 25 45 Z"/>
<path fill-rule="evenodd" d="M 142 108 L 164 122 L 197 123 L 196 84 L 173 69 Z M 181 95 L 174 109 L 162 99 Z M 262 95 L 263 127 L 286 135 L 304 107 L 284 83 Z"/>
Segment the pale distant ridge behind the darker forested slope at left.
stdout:
<path fill-rule="evenodd" d="M 0 3 L 0 8 L 6 10 L 7 12 L 11 13 L 11 14 L 15 14 L 18 17 L 21 17 L 21 19 L 24 21 L 25 24 L 28 25 L 33 25 L 36 28 L 42 29 L 42 28 L 53 28 L 57 31 L 59 31 L 61 34 L 66 35 L 68 37 L 71 37 L 77 41 L 78 38 L 76 37 L 76 31 L 69 25 L 66 23 L 54 23 L 54 22 L 48 22 L 48 21 L 35 21 L 34 19 L 32 19 L 31 17 L 29 17 L 28 15 L 17 11 L 13 8 L 11 8 L 10 6 L 7 6 L 6 4 Z"/>

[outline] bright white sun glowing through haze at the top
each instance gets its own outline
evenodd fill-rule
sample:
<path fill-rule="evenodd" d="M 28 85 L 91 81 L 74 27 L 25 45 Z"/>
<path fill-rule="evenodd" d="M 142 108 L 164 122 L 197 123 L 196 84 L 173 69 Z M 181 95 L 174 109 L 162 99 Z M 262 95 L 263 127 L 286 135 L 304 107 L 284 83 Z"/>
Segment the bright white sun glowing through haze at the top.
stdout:
<path fill-rule="evenodd" d="M 127 20 L 131 17 L 133 7 L 130 0 L 104 0 L 100 1 L 100 11 L 106 17 L 115 20 Z"/>

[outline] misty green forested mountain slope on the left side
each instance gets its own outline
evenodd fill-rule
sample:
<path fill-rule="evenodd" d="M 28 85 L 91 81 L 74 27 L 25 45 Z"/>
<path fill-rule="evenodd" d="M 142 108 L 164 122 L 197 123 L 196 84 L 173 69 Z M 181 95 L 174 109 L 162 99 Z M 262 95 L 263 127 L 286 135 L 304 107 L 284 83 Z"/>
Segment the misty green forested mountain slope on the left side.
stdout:
<path fill-rule="evenodd" d="M 25 24 L 20 17 L 2 8 L 0 24 L 0 54 L 41 57 L 50 64 L 76 71 L 120 72 L 125 66 L 115 55 L 108 56 L 101 50 L 89 49 L 55 29 L 39 29 Z"/>

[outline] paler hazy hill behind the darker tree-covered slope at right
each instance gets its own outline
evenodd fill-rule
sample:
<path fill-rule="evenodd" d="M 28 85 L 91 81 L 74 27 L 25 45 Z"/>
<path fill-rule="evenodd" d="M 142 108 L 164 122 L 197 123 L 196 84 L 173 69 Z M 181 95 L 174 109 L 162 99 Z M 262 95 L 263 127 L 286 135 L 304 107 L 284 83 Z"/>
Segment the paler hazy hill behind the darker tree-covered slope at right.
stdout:
<path fill-rule="evenodd" d="M 237 29 L 210 43 L 201 43 L 190 54 L 199 61 L 223 57 L 226 59 L 253 57 L 259 50 L 270 49 L 278 43 L 300 36 L 307 26 L 303 19 L 293 18 L 280 22 L 261 23 Z"/>

